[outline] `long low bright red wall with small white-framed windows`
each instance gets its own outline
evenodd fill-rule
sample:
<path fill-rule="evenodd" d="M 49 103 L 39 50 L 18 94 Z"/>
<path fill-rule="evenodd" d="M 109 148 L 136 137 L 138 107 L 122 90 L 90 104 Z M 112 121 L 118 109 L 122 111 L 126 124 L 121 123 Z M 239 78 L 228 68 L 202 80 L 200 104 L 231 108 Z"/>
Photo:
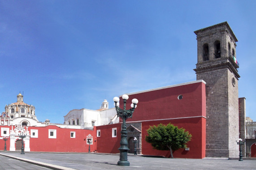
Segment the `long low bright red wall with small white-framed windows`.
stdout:
<path fill-rule="evenodd" d="M 38 129 L 38 138 L 30 137 L 30 151 L 40 152 L 88 152 L 87 137 L 93 136 L 91 152 L 95 150 L 96 132 L 83 129 L 67 129 L 57 126 L 29 127 Z M 56 129 L 56 139 L 48 138 L 48 129 Z M 75 132 L 75 138 L 70 138 L 70 132 Z"/>

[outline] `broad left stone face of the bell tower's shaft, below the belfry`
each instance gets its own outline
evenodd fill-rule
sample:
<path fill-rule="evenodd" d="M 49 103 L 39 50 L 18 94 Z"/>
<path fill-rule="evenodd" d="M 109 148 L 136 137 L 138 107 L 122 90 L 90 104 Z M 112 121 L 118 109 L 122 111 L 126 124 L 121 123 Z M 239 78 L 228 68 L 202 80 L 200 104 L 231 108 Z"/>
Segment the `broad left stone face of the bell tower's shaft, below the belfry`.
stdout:
<path fill-rule="evenodd" d="M 228 69 L 197 74 L 206 82 L 206 157 L 229 157 Z"/>

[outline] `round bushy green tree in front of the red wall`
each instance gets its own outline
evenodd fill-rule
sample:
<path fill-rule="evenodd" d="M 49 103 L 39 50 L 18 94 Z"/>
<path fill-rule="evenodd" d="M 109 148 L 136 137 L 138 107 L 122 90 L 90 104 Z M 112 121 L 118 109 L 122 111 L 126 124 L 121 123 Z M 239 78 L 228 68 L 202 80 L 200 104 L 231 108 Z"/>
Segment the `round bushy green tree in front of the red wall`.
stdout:
<path fill-rule="evenodd" d="M 191 140 L 192 135 L 183 128 L 178 128 L 173 124 L 150 126 L 147 130 L 146 141 L 158 150 L 170 150 L 171 157 L 173 151 L 180 148 L 187 148 L 186 143 Z"/>

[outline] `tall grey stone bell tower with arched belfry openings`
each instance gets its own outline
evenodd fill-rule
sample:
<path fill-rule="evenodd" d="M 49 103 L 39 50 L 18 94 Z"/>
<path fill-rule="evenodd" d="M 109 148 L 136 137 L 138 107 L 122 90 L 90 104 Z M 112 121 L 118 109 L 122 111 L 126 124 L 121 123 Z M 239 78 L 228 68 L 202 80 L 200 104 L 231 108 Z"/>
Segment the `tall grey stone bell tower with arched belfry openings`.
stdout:
<path fill-rule="evenodd" d="M 196 80 L 206 82 L 206 157 L 238 157 L 238 40 L 227 22 L 194 33 Z"/>

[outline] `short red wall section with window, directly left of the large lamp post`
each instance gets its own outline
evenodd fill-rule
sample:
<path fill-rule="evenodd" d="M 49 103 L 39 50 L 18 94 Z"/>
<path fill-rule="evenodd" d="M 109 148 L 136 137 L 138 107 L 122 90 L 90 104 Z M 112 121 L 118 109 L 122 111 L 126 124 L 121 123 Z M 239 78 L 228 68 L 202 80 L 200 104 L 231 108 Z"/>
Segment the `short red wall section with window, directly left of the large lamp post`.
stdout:
<path fill-rule="evenodd" d="M 117 137 L 112 137 L 112 128 L 117 128 Z M 97 151 L 99 153 L 120 153 L 121 123 L 97 126 L 100 137 L 97 137 Z"/>

